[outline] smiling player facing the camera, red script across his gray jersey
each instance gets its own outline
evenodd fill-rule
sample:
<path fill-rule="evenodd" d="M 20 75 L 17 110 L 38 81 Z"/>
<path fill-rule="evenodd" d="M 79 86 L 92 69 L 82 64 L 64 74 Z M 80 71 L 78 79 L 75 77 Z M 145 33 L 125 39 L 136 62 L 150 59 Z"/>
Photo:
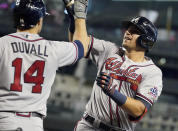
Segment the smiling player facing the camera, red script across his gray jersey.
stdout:
<path fill-rule="evenodd" d="M 75 131 L 134 131 L 161 94 L 162 72 L 145 56 L 157 40 L 156 27 L 141 16 L 124 21 L 123 27 L 122 48 L 90 37 L 87 57 L 98 72 Z"/>

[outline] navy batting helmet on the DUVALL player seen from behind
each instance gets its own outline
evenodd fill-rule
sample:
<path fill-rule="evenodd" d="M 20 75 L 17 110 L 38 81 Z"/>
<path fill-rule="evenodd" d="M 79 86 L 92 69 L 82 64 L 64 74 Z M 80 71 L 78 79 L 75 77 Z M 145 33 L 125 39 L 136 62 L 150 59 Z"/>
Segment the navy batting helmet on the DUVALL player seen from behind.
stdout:
<path fill-rule="evenodd" d="M 30 29 L 47 14 L 43 0 L 17 0 L 13 10 L 14 26 L 20 30 Z"/>

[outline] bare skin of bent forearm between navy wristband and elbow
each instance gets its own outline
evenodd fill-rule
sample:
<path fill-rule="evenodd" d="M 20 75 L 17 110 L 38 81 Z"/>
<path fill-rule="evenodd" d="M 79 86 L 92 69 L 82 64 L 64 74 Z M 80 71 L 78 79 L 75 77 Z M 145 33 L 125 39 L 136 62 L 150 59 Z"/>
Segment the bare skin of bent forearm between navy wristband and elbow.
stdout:
<path fill-rule="evenodd" d="M 145 111 L 145 106 L 141 101 L 130 97 L 127 97 L 125 104 L 121 108 L 133 117 L 139 117 Z"/>

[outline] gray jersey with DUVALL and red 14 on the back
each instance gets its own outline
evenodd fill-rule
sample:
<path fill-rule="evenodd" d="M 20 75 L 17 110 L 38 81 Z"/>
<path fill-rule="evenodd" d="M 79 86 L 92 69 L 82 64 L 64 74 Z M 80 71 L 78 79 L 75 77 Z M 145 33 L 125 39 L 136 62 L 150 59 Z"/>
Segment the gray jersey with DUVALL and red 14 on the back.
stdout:
<path fill-rule="evenodd" d="M 0 38 L 0 111 L 46 115 L 56 70 L 83 54 L 79 41 L 48 41 L 23 32 Z"/>

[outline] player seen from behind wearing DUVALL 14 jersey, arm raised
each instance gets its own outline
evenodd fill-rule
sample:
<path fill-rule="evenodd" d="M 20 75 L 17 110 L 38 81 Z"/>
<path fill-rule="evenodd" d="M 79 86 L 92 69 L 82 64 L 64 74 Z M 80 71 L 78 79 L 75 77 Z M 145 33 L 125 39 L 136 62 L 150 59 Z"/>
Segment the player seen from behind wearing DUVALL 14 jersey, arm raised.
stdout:
<path fill-rule="evenodd" d="M 17 0 L 13 11 L 17 32 L 0 38 L 0 131 L 43 131 L 56 70 L 87 52 L 88 37 L 80 37 L 86 31 L 81 28 L 82 12 L 75 11 L 73 42 L 40 37 L 46 15 L 42 0 Z"/>

